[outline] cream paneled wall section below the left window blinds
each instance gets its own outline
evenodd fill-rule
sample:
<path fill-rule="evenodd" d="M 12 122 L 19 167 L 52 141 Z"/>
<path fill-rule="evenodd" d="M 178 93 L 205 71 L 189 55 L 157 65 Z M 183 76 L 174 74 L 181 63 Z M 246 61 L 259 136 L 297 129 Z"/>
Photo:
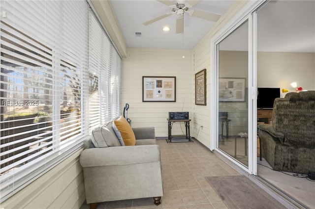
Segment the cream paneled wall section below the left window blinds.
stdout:
<path fill-rule="evenodd" d="M 85 201 L 82 150 L 1 203 L 1 209 L 79 209 Z"/>

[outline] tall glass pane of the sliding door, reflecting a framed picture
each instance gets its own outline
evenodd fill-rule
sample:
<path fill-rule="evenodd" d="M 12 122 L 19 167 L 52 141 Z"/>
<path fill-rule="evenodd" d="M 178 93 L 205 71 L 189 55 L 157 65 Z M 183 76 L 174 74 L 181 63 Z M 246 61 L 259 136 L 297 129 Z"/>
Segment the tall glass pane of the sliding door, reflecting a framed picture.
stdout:
<path fill-rule="evenodd" d="M 218 148 L 246 167 L 248 160 L 248 28 L 246 20 L 217 44 Z"/>

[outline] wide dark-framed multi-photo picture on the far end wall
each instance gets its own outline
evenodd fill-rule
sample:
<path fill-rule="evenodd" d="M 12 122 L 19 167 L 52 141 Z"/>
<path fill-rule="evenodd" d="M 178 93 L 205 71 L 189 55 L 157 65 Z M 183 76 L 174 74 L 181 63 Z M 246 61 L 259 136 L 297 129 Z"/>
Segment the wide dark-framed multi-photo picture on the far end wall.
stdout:
<path fill-rule="evenodd" d="M 142 77 L 142 102 L 176 102 L 176 77 Z"/>

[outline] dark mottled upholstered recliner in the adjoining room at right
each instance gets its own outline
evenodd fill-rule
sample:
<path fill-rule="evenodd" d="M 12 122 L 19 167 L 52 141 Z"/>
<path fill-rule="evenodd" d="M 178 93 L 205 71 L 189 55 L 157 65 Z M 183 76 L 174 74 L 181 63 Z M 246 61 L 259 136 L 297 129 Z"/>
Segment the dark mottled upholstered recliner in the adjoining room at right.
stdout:
<path fill-rule="evenodd" d="M 274 170 L 315 172 L 315 91 L 275 99 L 272 125 L 258 128 L 262 156 Z"/>

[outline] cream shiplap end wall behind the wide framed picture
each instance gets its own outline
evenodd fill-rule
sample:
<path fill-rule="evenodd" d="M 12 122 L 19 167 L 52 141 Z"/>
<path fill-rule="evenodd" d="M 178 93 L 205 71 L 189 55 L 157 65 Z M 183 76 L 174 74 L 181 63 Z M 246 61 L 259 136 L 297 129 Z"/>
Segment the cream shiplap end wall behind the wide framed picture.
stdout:
<path fill-rule="evenodd" d="M 168 135 L 168 112 L 188 111 L 193 118 L 191 51 L 128 48 L 122 64 L 122 106 L 129 104 L 131 127 L 155 127 L 157 137 Z M 142 102 L 142 76 L 175 76 L 176 102 Z M 172 134 L 183 134 L 183 122 L 174 123 Z"/>

